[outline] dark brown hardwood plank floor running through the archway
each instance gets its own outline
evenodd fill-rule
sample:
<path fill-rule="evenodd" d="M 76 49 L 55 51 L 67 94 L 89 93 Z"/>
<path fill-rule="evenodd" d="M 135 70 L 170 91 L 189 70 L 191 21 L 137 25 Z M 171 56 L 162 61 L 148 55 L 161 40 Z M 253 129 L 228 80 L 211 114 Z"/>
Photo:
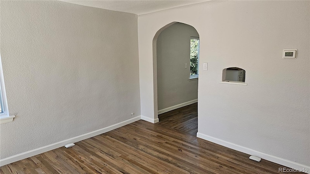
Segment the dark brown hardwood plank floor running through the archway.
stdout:
<path fill-rule="evenodd" d="M 197 104 L 0 168 L 0 174 L 278 174 L 283 167 L 199 139 Z"/>

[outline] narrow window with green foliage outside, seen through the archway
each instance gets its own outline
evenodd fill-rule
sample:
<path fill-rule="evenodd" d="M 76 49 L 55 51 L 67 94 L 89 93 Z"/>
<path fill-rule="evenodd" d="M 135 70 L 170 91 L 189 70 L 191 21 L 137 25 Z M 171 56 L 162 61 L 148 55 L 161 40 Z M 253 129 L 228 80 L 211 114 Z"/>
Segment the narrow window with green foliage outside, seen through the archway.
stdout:
<path fill-rule="evenodd" d="M 190 73 L 189 79 L 198 78 L 199 70 L 199 37 L 190 38 Z"/>

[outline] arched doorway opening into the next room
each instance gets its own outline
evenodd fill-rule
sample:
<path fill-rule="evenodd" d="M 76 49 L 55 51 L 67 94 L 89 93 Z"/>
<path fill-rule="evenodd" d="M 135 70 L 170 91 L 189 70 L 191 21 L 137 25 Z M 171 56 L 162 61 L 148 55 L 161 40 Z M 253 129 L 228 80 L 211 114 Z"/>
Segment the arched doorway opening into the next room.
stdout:
<path fill-rule="evenodd" d="M 191 124 L 196 125 L 188 127 L 196 127 L 195 135 L 198 124 L 198 62 L 199 33 L 194 27 L 172 22 L 157 31 L 153 39 L 155 111 L 161 116 L 159 121 L 165 120 L 169 113 L 183 115 L 182 128 L 188 126 L 185 117 L 190 119 Z M 184 109 L 187 113 L 182 113 Z"/>

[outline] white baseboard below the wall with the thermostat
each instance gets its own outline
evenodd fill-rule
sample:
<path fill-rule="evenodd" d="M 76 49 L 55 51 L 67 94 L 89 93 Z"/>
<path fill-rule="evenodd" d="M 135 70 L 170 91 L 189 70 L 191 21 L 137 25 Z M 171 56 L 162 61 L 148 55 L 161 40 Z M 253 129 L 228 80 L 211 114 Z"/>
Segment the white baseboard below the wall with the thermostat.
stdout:
<path fill-rule="evenodd" d="M 310 174 L 310 166 L 307 166 L 307 165 L 304 165 L 304 164 L 299 164 L 299 163 L 291 161 L 291 160 L 285 160 L 285 159 L 282 159 L 282 158 L 279 158 L 279 157 L 276 157 L 276 156 L 273 156 L 273 155 L 265 154 L 263 152 L 259 152 L 259 151 L 256 151 L 256 150 L 253 150 L 253 149 L 241 146 L 241 145 L 236 145 L 236 144 L 233 144 L 233 143 L 230 143 L 230 142 L 218 139 L 218 138 L 214 138 L 212 136 L 205 135 L 205 134 L 202 134 L 202 133 L 199 133 L 199 132 L 197 133 L 197 137 L 201 138 L 203 140 L 210 141 L 210 142 L 215 143 L 217 145 L 223 145 L 223 146 L 231 148 L 233 150 L 237 150 L 237 151 L 246 153 L 248 155 L 253 155 L 253 156 L 259 157 L 259 158 L 264 159 L 264 160 L 275 162 L 277 164 L 280 164 L 280 165 L 283 165 L 283 166 L 286 166 L 286 167 L 289 167 L 289 168 L 293 168 L 293 169 L 307 169 L 307 170 L 305 170 L 305 172 L 307 174 Z"/>

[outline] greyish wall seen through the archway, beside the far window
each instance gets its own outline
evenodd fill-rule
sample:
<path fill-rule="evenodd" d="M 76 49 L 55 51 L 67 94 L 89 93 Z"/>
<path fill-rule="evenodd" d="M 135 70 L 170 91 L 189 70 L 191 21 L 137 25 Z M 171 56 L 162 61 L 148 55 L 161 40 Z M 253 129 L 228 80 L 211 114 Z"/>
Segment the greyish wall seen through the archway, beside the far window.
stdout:
<path fill-rule="evenodd" d="M 196 29 L 175 23 L 157 38 L 158 110 L 198 97 L 198 80 L 189 81 L 191 36 L 199 37 Z"/>

